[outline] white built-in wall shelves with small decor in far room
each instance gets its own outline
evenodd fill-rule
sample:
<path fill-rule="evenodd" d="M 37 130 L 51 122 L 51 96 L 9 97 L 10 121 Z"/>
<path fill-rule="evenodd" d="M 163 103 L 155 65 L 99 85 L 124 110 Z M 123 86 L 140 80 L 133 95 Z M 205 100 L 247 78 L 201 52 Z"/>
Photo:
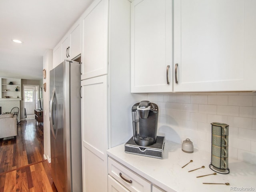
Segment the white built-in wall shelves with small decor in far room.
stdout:
<path fill-rule="evenodd" d="M 0 85 L 1 100 L 21 100 L 21 79 L 0 78 Z"/>

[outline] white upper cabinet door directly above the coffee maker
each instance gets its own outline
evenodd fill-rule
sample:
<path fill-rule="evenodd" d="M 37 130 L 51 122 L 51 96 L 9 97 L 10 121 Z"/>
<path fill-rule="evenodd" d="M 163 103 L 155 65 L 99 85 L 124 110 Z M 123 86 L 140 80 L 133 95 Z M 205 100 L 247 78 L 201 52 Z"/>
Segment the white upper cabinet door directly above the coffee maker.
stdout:
<path fill-rule="evenodd" d="M 171 68 L 172 0 L 134 0 L 131 3 L 131 92 L 171 92 Z"/>

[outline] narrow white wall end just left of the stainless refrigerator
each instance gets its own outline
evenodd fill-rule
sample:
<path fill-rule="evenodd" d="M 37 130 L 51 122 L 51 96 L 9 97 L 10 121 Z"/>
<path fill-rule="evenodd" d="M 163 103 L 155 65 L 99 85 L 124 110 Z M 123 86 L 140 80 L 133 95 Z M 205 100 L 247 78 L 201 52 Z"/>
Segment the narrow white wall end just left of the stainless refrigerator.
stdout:
<path fill-rule="evenodd" d="M 43 79 L 43 84 L 46 83 L 46 92 L 43 92 L 43 109 L 44 109 L 44 158 L 51 162 L 51 144 L 50 144 L 50 120 L 49 120 L 49 101 L 50 101 L 50 70 L 52 69 L 52 50 L 47 50 L 43 57 L 43 69 L 46 69 L 46 78 Z M 43 70 L 42 69 L 42 70 Z"/>

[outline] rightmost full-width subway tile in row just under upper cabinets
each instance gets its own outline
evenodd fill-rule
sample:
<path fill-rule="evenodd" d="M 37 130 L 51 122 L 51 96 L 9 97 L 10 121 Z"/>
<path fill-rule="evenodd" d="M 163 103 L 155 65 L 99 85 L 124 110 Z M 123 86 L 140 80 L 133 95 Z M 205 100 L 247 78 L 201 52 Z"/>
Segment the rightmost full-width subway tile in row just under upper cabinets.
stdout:
<path fill-rule="evenodd" d="M 228 105 L 234 106 L 252 106 L 253 96 L 246 95 L 229 95 Z"/>

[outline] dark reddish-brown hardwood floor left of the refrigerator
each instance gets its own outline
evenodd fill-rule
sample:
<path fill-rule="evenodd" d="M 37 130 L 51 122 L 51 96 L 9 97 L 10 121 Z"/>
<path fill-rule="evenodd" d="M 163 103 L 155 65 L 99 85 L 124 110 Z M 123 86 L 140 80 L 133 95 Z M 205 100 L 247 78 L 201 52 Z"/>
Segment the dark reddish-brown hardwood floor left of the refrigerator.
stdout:
<path fill-rule="evenodd" d="M 16 138 L 0 139 L 0 192 L 57 192 L 44 160 L 44 127 L 22 121 Z"/>

